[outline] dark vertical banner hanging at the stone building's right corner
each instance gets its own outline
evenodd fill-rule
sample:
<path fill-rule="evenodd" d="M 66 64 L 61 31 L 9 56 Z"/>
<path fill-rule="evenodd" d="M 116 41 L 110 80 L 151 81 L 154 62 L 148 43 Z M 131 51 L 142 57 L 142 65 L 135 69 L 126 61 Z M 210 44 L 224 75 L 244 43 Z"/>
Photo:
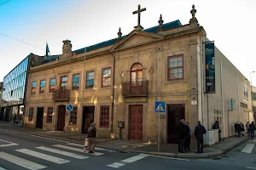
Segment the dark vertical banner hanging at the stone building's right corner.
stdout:
<path fill-rule="evenodd" d="M 212 94 L 212 93 L 216 93 L 214 42 L 205 44 L 205 54 L 206 54 L 206 94 Z"/>

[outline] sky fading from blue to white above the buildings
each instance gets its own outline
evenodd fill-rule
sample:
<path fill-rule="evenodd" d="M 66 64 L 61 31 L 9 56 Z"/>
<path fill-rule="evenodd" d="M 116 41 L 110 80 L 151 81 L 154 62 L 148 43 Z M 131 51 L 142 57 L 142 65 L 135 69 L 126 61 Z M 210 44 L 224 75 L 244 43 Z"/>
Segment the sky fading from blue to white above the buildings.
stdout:
<path fill-rule="evenodd" d="M 0 82 L 28 54 L 44 55 L 46 42 L 51 54 L 61 54 L 62 40 L 71 40 L 74 50 L 117 37 L 119 27 L 123 35 L 130 33 L 138 4 L 147 8 L 141 23 L 148 28 L 158 25 L 160 14 L 165 23 L 188 24 L 193 3 L 207 37 L 250 79 L 256 71 L 255 0 L 10 0 L 0 5 Z"/>

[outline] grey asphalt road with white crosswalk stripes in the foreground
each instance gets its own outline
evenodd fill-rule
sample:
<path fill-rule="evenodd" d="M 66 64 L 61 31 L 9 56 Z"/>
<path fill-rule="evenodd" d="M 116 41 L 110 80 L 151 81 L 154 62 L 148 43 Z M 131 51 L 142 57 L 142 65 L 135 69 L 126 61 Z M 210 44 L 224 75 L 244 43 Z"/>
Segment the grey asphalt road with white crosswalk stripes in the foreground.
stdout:
<path fill-rule="evenodd" d="M 101 148 L 96 148 L 96 153 L 91 155 L 83 152 L 83 145 L 81 144 L 1 131 L 0 170 L 256 169 L 254 144 L 254 141 L 241 144 L 226 156 L 216 159 L 175 159 L 138 153 L 120 153 Z M 242 153 L 241 150 L 247 153 Z"/>

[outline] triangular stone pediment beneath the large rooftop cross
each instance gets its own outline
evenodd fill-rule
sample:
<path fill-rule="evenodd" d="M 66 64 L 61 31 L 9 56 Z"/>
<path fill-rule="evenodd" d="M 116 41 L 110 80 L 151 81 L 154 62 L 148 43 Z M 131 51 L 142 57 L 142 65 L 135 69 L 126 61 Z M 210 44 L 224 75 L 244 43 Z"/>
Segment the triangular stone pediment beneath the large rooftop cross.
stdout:
<path fill-rule="evenodd" d="M 155 42 L 163 39 L 164 36 L 161 34 L 155 34 L 147 31 L 131 31 L 131 33 L 124 39 L 115 44 L 110 51 L 118 51 L 125 48 L 137 47 L 139 45 Z"/>

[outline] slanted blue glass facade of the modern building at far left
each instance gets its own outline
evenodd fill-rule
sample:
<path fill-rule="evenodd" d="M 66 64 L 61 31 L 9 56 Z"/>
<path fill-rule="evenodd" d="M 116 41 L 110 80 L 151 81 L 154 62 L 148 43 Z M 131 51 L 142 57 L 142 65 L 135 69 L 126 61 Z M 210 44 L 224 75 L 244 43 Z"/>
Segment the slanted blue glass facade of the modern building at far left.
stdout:
<path fill-rule="evenodd" d="M 3 78 L 4 103 L 9 105 L 22 105 L 26 88 L 26 71 L 28 68 L 28 57 L 23 59 L 9 74 Z"/>

